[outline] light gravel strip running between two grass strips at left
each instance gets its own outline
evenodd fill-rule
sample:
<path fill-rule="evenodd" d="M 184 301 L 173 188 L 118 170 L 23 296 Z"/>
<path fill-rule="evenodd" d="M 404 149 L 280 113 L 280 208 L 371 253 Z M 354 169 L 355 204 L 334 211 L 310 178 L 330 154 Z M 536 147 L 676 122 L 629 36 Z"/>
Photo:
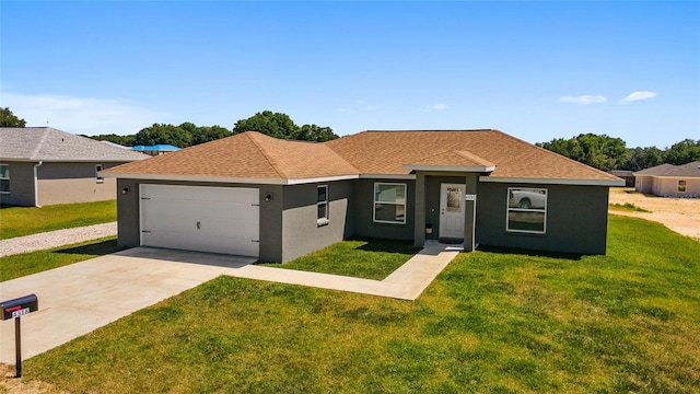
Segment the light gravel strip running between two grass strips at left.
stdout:
<path fill-rule="evenodd" d="M 0 241 L 0 257 L 44 251 L 117 234 L 117 222 L 49 231 Z"/>

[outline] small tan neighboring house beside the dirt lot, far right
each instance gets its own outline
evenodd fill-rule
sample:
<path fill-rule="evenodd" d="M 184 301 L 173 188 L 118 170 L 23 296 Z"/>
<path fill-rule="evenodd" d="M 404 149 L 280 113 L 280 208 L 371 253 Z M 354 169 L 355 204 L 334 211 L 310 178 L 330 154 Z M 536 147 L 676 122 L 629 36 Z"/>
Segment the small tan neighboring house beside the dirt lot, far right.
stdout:
<path fill-rule="evenodd" d="M 661 197 L 700 197 L 700 162 L 662 164 L 634 173 L 634 189 Z"/>

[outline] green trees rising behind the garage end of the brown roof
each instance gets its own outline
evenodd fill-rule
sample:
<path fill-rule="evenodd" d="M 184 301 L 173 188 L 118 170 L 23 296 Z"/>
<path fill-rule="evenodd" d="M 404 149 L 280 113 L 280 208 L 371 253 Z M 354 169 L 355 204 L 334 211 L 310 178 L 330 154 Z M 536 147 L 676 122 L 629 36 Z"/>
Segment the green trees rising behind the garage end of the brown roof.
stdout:
<path fill-rule="evenodd" d="M 240 119 L 231 130 L 218 125 L 197 126 L 186 121 L 179 126 L 154 124 L 130 136 L 109 134 L 92 136 L 91 138 L 127 147 L 172 144 L 178 148 L 187 148 L 252 130 L 270 137 L 290 140 L 324 142 L 338 138 L 330 127 L 316 125 L 298 126 L 289 115 L 271 111 L 264 111 L 249 118 Z"/>

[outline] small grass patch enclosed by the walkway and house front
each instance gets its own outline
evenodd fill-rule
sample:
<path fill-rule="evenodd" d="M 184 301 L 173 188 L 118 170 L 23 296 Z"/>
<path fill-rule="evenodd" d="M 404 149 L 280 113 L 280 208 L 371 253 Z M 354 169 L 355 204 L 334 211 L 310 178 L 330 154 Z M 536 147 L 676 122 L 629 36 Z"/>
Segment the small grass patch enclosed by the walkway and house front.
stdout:
<path fill-rule="evenodd" d="M 382 280 L 420 252 L 412 241 L 353 240 L 271 267 Z"/>

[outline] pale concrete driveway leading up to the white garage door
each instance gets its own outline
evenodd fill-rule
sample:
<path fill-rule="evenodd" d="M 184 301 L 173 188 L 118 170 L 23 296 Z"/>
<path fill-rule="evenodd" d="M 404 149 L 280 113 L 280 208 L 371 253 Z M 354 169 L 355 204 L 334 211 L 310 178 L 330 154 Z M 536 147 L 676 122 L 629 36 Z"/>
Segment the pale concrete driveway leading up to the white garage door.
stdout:
<path fill-rule="evenodd" d="M 149 258 L 150 257 L 150 258 Z M 136 248 L 0 283 L 0 301 L 35 293 L 22 359 L 211 280 L 255 258 Z M 14 321 L 0 322 L 0 362 L 14 364 Z"/>

